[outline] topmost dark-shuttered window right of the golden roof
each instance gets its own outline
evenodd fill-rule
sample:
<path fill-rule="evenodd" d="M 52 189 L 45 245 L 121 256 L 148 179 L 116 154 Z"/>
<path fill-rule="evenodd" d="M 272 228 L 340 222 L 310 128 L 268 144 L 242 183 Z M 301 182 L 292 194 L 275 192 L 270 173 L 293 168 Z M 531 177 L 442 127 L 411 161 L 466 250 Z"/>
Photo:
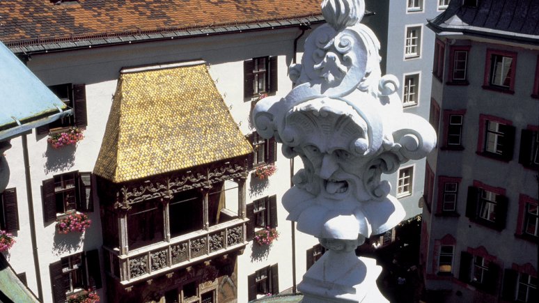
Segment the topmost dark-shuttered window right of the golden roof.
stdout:
<path fill-rule="evenodd" d="M 244 61 L 244 98 L 277 91 L 277 57 Z"/>

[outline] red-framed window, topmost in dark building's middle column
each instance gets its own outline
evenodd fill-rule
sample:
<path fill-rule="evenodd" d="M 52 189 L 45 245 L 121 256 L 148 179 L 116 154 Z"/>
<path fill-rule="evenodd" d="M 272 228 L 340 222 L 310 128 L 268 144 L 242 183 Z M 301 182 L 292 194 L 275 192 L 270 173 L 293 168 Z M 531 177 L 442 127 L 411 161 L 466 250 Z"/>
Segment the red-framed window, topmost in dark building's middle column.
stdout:
<path fill-rule="evenodd" d="M 488 49 L 483 87 L 513 92 L 516 63 L 517 53 Z"/>

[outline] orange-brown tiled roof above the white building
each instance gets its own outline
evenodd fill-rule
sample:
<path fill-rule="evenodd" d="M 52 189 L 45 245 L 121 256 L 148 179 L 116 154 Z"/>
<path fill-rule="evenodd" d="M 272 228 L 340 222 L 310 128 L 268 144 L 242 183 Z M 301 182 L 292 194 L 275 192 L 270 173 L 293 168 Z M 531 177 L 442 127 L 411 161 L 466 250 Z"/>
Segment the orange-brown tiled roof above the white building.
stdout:
<path fill-rule="evenodd" d="M 320 0 L 1 0 L 0 40 L 9 47 L 87 45 L 321 21 Z M 314 19 L 313 19 L 314 18 Z M 290 20 L 295 22 L 290 23 Z M 64 45 L 61 45 L 63 43 Z"/>

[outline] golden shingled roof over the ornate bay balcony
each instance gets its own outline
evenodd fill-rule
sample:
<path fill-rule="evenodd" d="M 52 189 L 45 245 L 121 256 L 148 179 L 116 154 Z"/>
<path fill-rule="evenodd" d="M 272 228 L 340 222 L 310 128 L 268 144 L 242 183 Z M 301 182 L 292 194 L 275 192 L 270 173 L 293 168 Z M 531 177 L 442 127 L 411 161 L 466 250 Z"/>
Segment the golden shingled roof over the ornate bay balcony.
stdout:
<path fill-rule="evenodd" d="M 93 172 L 125 182 L 252 151 L 204 63 L 123 70 Z"/>

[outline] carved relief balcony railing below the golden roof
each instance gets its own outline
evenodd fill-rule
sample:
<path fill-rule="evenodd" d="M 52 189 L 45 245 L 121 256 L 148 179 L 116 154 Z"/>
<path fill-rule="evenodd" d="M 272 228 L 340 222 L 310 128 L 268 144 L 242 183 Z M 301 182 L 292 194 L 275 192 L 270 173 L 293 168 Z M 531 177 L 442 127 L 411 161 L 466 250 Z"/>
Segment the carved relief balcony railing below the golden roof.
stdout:
<path fill-rule="evenodd" d="M 105 270 L 126 285 L 226 251 L 240 249 L 247 244 L 246 223 L 247 220 L 235 219 L 211 226 L 208 231 L 181 235 L 171 239 L 171 242 L 152 244 L 126 255 L 119 255 L 118 251 L 103 247 Z"/>

